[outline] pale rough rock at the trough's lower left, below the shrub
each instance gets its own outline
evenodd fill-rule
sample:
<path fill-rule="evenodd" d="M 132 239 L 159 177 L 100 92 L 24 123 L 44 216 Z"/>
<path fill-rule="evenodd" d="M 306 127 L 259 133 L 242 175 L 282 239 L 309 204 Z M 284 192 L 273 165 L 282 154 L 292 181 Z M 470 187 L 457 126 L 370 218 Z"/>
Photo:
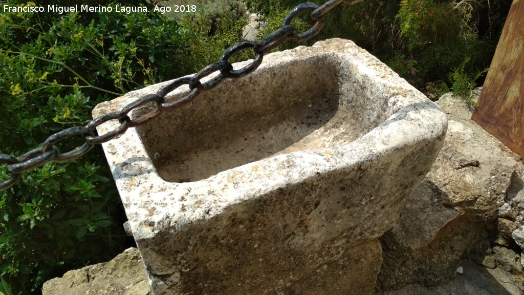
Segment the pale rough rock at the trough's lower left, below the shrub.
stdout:
<path fill-rule="evenodd" d="M 136 248 L 129 248 L 106 264 L 66 272 L 43 284 L 42 295 L 152 295 Z"/>

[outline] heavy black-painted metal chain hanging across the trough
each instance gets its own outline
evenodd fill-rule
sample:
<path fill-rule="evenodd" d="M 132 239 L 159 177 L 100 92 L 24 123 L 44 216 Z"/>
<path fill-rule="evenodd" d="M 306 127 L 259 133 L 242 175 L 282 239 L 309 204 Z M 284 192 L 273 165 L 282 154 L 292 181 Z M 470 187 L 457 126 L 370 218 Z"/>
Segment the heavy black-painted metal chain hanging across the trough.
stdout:
<path fill-rule="evenodd" d="M 362 0 L 345 0 L 344 3 L 355 4 L 361 1 Z M 0 182 L 0 191 L 14 185 L 20 179 L 21 173 L 41 167 L 51 161 L 61 163 L 77 159 L 91 150 L 95 144 L 101 144 L 110 141 L 116 136 L 123 134 L 130 127 L 137 127 L 138 125 L 152 121 L 156 119 L 158 114 L 162 111 L 183 107 L 185 104 L 188 104 L 193 99 L 195 99 L 200 91 L 214 88 L 225 78 L 233 79 L 248 75 L 250 72 L 257 69 L 258 66 L 260 66 L 264 54 L 278 47 L 283 42 L 287 40 L 293 40 L 297 42 L 304 41 L 319 34 L 322 26 L 324 25 L 324 14 L 333 7 L 339 5 L 341 2 L 343 2 L 343 0 L 330 0 L 320 6 L 311 2 L 299 4 L 291 9 L 289 14 L 283 20 L 282 26 L 279 29 L 275 30 L 257 43 L 253 41 L 243 41 L 231 46 L 230 48 L 227 48 L 220 57 L 219 61 L 204 67 L 201 71 L 192 77 L 182 77 L 176 79 L 169 85 L 162 87 L 159 91 L 157 91 L 156 94 L 148 94 L 145 97 L 129 103 L 120 111 L 111 112 L 102 115 L 102 117 L 93 119 L 84 127 L 71 127 L 54 133 L 53 135 L 49 136 L 45 142 L 43 142 L 43 145 L 40 146 L 40 148 L 31 150 L 19 157 L 0 154 L 0 164 L 7 164 L 7 172 L 11 174 L 7 180 Z M 295 34 L 295 29 L 291 25 L 291 21 L 297 15 L 307 11 L 311 11 L 310 17 L 315 22 L 314 25 L 304 33 Z M 228 61 L 228 59 L 236 52 L 248 48 L 253 48 L 253 51 L 257 55 L 255 60 L 241 69 L 233 69 L 233 65 Z M 202 78 L 209 76 L 211 73 L 216 71 L 220 71 L 220 73 L 215 78 L 205 83 L 200 82 Z M 165 101 L 165 97 L 169 92 L 184 84 L 187 84 L 191 90 L 187 96 L 174 102 Z M 129 117 L 129 112 L 150 102 L 156 103 L 156 108 L 154 110 L 136 119 L 131 119 Z M 120 122 L 118 128 L 107 132 L 104 135 L 94 134 L 97 126 L 111 120 L 118 120 Z M 72 151 L 60 153 L 55 144 L 61 140 L 70 138 L 71 136 L 81 136 L 85 143 Z"/>

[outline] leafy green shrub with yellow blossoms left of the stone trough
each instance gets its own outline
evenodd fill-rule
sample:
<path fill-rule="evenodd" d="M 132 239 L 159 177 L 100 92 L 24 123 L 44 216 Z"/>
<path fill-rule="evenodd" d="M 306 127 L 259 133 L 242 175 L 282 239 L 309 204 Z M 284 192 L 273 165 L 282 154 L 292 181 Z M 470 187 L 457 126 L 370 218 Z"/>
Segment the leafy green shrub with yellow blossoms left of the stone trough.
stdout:
<path fill-rule="evenodd" d="M 212 32 L 206 12 L 183 26 L 151 10 L 0 15 L 0 153 L 19 156 L 54 132 L 84 125 L 101 101 L 200 70 L 239 40 L 245 23 L 244 16 L 223 17 Z M 58 148 L 80 144 L 75 138 Z M 0 165 L 0 181 L 7 177 Z M 95 146 L 78 160 L 24 173 L 0 192 L 0 274 L 14 290 L 38 293 L 47 279 L 107 261 L 132 243 L 122 230 L 124 210 L 110 178 Z"/>

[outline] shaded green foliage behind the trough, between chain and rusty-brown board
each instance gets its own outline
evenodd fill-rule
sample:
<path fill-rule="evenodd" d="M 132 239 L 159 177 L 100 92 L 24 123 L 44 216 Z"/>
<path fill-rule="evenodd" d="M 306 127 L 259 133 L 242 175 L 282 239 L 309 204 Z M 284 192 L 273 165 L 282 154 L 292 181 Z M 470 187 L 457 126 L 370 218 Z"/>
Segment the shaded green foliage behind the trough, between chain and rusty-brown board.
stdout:
<path fill-rule="evenodd" d="M 302 1 L 245 3 L 251 12 L 262 14 L 262 20 L 271 23 L 275 15 L 285 15 Z M 428 93 L 426 83 L 447 81 L 447 74 L 466 55 L 471 58 L 464 68 L 468 75 L 489 66 L 510 4 L 488 0 L 364 0 L 350 6 L 341 4 L 325 15 L 324 27 L 314 39 L 351 39 Z M 307 18 L 303 21 L 307 27 L 312 24 Z M 288 43 L 276 50 L 298 45 Z"/>

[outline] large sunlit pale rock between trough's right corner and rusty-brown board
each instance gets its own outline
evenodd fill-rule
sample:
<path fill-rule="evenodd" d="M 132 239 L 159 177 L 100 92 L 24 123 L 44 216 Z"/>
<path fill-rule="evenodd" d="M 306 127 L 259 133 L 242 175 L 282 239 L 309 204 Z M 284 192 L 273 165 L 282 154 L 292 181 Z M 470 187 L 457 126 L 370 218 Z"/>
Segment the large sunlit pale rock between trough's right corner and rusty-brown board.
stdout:
<path fill-rule="evenodd" d="M 503 206 L 514 173 L 522 168 L 517 155 L 471 121 L 464 101 L 444 94 L 437 102 L 448 113 L 444 147 L 427 177 L 472 221 L 494 219 Z"/>

